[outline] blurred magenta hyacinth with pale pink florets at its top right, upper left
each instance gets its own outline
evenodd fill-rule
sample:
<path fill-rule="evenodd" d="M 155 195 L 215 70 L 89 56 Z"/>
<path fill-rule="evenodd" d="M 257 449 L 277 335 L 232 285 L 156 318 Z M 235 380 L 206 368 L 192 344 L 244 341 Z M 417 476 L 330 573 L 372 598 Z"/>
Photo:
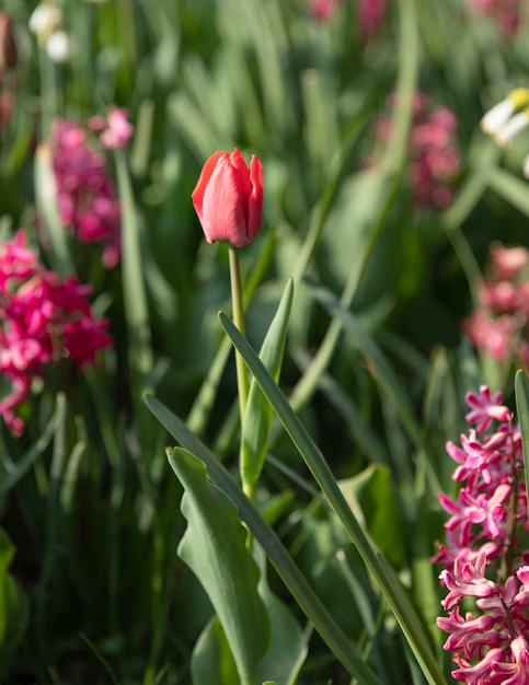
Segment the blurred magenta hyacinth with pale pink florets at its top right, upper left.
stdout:
<path fill-rule="evenodd" d="M 126 113 L 111 107 L 106 119 L 93 117 L 89 128 L 99 133 L 103 148 L 126 144 L 133 135 Z M 62 222 L 81 243 L 104 245 L 103 266 L 113 268 L 120 252 L 120 205 L 106 169 L 104 154 L 94 148 L 89 128 L 58 119 L 51 137 L 58 208 Z"/>

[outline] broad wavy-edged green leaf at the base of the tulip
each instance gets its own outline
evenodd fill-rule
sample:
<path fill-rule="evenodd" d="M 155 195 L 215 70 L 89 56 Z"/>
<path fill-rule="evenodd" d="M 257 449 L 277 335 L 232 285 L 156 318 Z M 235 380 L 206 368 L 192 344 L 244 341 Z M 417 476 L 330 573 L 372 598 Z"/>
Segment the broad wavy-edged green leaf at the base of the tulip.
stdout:
<path fill-rule="evenodd" d="M 260 572 L 246 548 L 246 531 L 233 502 L 207 478 L 206 466 L 189 452 L 168 450 L 185 492 L 186 532 L 180 557 L 206 590 L 230 645 L 242 683 L 253 683 L 268 643 L 268 619 L 257 593 Z"/>

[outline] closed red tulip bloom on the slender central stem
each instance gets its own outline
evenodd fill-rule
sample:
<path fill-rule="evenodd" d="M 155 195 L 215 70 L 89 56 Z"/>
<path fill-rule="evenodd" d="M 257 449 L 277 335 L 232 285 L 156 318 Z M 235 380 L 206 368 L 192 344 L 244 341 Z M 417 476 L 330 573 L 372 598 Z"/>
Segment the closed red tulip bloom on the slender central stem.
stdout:
<path fill-rule="evenodd" d="M 192 194 L 208 243 L 245 247 L 261 231 L 263 165 L 253 155 L 250 169 L 235 148 L 216 152 L 204 164 Z"/>

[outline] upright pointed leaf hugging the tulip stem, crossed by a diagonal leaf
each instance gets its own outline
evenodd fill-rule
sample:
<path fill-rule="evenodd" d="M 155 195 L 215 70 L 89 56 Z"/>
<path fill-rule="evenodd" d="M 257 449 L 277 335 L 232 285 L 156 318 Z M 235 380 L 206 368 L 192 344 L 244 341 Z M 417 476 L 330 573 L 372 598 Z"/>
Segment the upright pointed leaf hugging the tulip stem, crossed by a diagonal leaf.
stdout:
<path fill-rule="evenodd" d="M 262 362 L 276 382 L 283 363 L 292 298 L 294 282 L 289 279 L 260 352 Z M 241 458 L 241 479 L 251 487 L 257 483 L 263 469 L 273 416 L 269 402 L 253 379 L 242 428 Z"/>

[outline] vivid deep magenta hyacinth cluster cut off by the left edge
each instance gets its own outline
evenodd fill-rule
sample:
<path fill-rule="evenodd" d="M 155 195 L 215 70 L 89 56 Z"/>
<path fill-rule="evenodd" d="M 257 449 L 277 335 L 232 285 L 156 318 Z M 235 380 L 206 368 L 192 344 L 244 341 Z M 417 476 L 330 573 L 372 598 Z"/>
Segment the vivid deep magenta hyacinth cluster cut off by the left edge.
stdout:
<path fill-rule="evenodd" d="M 15 409 L 47 364 L 68 358 L 83 367 L 112 344 L 106 321 L 90 307 L 91 290 L 47 270 L 23 230 L 0 244 L 0 379 L 9 387 L 0 416 L 15 436 L 24 431 Z"/>

